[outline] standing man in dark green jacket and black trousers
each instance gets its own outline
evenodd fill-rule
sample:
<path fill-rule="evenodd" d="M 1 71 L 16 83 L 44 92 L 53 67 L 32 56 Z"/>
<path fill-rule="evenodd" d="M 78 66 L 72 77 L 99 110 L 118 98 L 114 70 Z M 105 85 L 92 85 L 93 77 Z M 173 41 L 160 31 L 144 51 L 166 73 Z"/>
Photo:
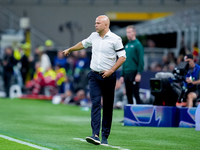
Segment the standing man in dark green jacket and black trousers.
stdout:
<path fill-rule="evenodd" d="M 137 104 L 141 104 L 139 88 L 141 73 L 144 70 L 144 49 L 136 38 L 133 25 L 127 26 L 126 36 L 129 42 L 125 45 L 126 61 L 122 66 L 121 80 L 125 82 L 128 104 L 133 104 L 133 95 Z"/>

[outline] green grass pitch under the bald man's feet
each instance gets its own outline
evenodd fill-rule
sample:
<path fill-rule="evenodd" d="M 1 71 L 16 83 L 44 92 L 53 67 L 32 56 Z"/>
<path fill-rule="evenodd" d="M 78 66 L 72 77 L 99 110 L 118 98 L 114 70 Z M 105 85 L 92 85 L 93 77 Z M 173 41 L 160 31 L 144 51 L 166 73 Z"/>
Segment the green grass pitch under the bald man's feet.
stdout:
<path fill-rule="evenodd" d="M 0 135 L 53 150 L 200 150 L 194 128 L 128 127 L 119 123 L 123 110 L 114 110 L 109 145 L 80 139 L 92 134 L 90 111 L 50 101 L 0 98 Z M 77 138 L 77 139 L 76 139 Z M 35 148 L 0 138 L 1 150 Z"/>

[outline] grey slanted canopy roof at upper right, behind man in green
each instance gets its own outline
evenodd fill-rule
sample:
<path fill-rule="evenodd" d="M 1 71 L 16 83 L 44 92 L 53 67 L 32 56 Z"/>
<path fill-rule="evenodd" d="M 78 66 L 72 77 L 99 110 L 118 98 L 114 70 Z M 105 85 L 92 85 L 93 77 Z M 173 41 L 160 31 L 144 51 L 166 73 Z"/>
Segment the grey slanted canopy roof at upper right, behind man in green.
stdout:
<path fill-rule="evenodd" d="M 190 49 L 193 48 L 195 42 L 200 47 L 200 10 L 199 6 L 192 9 L 186 9 L 175 13 L 174 15 L 164 18 L 158 18 L 135 25 L 138 35 L 153 35 L 177 33 L 177 49 L 181 48 L 182 32 L 184 41 L 189 43 Z M 120 29 L 117 33 L 125 36 L 125 28 Z M 178 53 L 178 50 L 176 52 Z"/>

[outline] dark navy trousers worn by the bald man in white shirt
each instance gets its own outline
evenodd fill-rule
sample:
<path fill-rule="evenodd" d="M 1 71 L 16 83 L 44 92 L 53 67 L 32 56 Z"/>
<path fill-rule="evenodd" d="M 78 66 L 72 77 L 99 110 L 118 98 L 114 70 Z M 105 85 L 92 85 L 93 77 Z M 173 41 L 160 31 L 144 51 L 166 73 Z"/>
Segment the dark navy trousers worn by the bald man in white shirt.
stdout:
<path fill-rule="evenodd" d="M 108 78 L 102 78 L 100 74 L 89 72 L 89 89 L 92 101 L 91 127 L 93 135 L 98 135 L 101 126 L 101 98 L 103 99 L 103 119 L 101 135 L 108 138 L 110 134 L 113 114 L 114 91 L 116 73 Z"/>

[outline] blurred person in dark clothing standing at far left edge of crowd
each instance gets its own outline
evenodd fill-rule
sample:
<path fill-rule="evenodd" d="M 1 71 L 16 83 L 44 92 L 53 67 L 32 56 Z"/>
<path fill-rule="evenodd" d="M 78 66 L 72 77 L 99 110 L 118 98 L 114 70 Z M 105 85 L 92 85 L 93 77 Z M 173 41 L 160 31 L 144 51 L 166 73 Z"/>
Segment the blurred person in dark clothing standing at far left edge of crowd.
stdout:
<path fill-rule="evenodd" d="M 13 79 L 13 67 L 17 64 L 17 60 L 13 56 L 12 47 L 6 47 L 3 57 L 3 79 L 4 79 L 4 89 L 6 92 L 6 97 L 9 97 L 9 89 L 12 84 Z"/>

